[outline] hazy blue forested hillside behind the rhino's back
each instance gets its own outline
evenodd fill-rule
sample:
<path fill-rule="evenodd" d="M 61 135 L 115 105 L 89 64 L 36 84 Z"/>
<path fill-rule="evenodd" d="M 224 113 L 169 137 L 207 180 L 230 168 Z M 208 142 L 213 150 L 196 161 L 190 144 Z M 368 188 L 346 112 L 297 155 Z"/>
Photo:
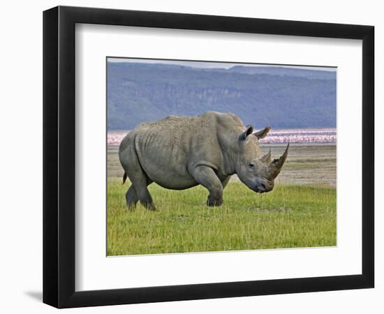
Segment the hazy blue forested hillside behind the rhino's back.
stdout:
<path fill-rule="evenodd" d="M 336 72 L 108 62 L 108 130 L 170 114 L 232 112 L 257 128 L 336 126 Z"/>

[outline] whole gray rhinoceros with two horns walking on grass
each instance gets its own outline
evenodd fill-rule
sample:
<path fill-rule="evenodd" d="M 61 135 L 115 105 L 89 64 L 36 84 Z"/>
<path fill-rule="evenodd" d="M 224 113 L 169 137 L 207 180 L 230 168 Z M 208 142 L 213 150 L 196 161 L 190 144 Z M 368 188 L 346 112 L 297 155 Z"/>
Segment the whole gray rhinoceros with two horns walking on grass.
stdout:
<path fill-rule="evenodd" d="M 258 139 L 270 128 L 253 133 L 235 114 L 206 112 L 196 117 L 170 116 L 138 125 L 119 147 L 119 159 L 131 187 L 126 192 L 128 209 L 140 200 L 154 210 L 147 186 L 184 190 L 201 184 L 209 190 L 208 206 L 223 203 L 223 188 L 237 174 L 251 190 L 264 193 L 274 188 L 288 155 L 288 146 L 271 162 L 271 152 L 260 156 Z"/>

